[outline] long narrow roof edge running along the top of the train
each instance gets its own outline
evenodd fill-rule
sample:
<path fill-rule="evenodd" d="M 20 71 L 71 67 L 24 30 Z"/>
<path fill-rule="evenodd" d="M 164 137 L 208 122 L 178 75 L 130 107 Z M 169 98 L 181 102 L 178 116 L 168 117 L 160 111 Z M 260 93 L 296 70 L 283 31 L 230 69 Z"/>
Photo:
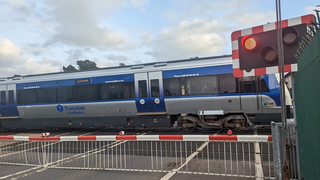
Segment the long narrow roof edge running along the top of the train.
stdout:
<path fill-rule="evenodd" d="M 30 74 L 30 75 L 14 75 L 12 77 L 8 78 L 0 78 L 0 81 L 6 81 L 9 79 L 12 80 L 18 80 L 22 78 L 31 78 L 31 77 L 39 77 L 39 76 L 50 76 L 50 75 L 58 75 L 58 74 L 72 74 L 72 73 L 81 73 L 81 72 L 88 72 L 88 71 L 97 71 L 97 70 L 119 70 L 119 69 L 125 69 L 125 68 L 131 68 L 131 69 L 139 69 L 143 68 L 145 66 L 166 66 L 173 63 L 183 63 L 183 62 L 192 62 L 192 61 L 201 61 L 201 60 L 219 60 L 224 58 L 232 57 L 232 55 L 222 55 L 222 56 L 210 56 L 210 57 L 192 57 L 189 59 L 182 59 L 182 60 L 174 60 L 174 61 L 161 61 L 161 62 L 149 62 L 149 63 L 142 63 L 142 64 L 135 64 L 135 65 L 126 65 L 126 66 L 115 66 L 115 67 L 107 67 L 107 68 L 96 68 L 96 69 L 87 69 L 87 70 L 75 70 L 75 71 L 60 71 L 60 72 L 52 72 L 52 73 L 43 73 L 43 74 Z"/>

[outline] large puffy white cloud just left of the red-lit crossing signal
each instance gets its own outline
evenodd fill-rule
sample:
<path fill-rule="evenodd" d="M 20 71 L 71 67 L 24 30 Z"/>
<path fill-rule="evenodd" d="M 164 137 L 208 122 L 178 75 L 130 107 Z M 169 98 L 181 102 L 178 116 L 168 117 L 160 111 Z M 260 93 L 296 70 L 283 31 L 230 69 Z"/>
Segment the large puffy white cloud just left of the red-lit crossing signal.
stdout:
<path fill-rule="evenodd" d="M 225 25 L 216 20 L 182 21 L 175 27 L 164 29 L 156 37 L 150 54 L 157 61 L 169 61 L 219 53 L 228 43 L 220 35 L 225 30 Z"/>

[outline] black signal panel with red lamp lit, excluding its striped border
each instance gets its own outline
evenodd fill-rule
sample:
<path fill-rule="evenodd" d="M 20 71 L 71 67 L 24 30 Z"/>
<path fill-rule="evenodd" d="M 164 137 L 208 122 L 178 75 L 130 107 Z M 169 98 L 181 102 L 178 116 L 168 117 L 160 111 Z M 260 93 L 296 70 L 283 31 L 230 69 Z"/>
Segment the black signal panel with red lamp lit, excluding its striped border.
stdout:
<path fill-rule="evenodd" d="M 282 28 L 284 65 L 297 63 L 293 53 L 306 29 L 306 23 Z M 277 39 L 277 29 L 238 37 L 240 70 L 278 66 Z"/>

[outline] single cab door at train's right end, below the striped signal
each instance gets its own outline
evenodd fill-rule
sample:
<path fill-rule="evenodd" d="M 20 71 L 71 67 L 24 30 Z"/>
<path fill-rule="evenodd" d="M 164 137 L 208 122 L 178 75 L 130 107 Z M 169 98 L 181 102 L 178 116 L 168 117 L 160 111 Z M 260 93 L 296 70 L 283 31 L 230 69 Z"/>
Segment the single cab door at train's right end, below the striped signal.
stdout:
<path fill-rule="evenodd" d="M 256 76 L 239 78 L 240 101 L 242 110 L 261 110 L 261 91 Z"/>

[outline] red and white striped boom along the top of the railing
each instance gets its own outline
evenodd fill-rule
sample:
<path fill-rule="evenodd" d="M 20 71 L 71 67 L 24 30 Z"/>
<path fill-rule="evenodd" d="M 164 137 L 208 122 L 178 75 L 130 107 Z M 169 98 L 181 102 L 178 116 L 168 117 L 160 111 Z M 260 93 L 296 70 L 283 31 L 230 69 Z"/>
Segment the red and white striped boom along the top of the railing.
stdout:
<path fill-rule="evenodd" d="M 15 141 L 259 141 L 271 142 L 271 135 L 97 135 L 97 136 L 0 136 Z"/>

